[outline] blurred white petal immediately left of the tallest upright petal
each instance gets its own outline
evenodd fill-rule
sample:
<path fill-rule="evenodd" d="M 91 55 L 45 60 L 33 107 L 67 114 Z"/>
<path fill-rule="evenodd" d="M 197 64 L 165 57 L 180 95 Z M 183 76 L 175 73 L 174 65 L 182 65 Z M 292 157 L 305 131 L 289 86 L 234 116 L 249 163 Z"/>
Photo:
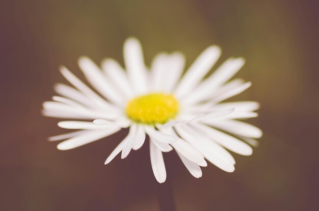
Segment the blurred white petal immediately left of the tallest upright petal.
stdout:
<path fill-rule="evenodd" d="M 104 59 L 102 69 L 105 75 L 110 78 L 114 85 L 128 98 L 133 96 L 132 87 L 128 81 L 126 72 L 120 64 L 112 58 Z"/>

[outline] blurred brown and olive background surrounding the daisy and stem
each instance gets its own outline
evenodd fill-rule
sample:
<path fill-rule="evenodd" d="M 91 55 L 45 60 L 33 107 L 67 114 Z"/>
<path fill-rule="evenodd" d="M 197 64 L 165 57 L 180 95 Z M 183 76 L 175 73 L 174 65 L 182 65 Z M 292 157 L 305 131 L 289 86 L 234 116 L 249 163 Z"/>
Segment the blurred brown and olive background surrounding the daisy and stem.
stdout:
<path fill-rule="evenodd" d="M 249 122 L 264 131 L 234 173 L 213 165 L 203 177 L 165 154 L 177 210 L 318 210 L 317 1 L 7 1 L 0 8 L 1 210 L 159 210 L 148 144 L 127 159 L 104 160 L 125 131 L 69 151 L 47 137 L 63 133 L 41 103 L 66 82 L 58 67 L 81 55 L 123 64 L 122 44 L 138 37 L 149 65 L 181 50 L 189 66 L 208 45 L 218 64 L 244 56 L 238 73 L 253 86 L 231 100 L 261 103 Z"/>

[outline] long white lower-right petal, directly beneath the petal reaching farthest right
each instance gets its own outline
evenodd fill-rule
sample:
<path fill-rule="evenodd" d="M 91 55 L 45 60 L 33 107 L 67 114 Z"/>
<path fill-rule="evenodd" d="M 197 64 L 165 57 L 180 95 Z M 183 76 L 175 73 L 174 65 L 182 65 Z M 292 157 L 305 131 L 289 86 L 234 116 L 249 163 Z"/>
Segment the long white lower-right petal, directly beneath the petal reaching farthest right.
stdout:
<path fill-rule="evenodd" d="M 234 153 L 245 156 L 249 156 L 253 153 L 253 149 L 248 144 L 233 136 L 202 124 L 196 124 L 195 127 L 201 130 L 207 137 L 210 137 L 212 140 L 218 142 Z"/>

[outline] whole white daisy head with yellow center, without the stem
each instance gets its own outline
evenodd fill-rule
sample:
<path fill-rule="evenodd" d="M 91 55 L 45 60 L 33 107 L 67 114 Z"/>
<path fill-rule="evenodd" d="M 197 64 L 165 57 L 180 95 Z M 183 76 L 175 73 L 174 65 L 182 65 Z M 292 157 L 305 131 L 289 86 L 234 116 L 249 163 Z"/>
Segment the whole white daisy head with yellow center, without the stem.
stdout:
<path fill-rule="evenodd" d="M 129 38 L 123 54 L 126 71 L 112 58 L 104 59 L 101 68 L 88 57 L 79 58 L 78 65 L 95 91 L 66 67 L 60 68 L 72 86 L 55 85 L 59 96 L 43 103 L 43 114 L 71 119 L 58 126 L 76 131 L 50 137 L 50 141 L 64 140 L 58 149 L 72 149 L 129 128 L 105 164 L 120 153 L 124 159 L 131 149 L 142 147 L 147 135 L 151 167 L 159 183 L 166 180 L 163 152 L 172 149 L 197 178 L 206 160 L 234 171 L 235 160 L 228 150 L 252 154 L 250 145 L 257 144 L 254 138 L 262 132 L 241 119 L 256 117 L 259 104 L 221 103 L 251 85 L 242 79 L 229 81 L 243 67 L 243 58 L 229 58 L 205 77 L 221 54 L 217 46 L 206 48 L 184 75 L 185 59 L 180 52 L 159 53 L 148 68 L 140 42 Z"/>

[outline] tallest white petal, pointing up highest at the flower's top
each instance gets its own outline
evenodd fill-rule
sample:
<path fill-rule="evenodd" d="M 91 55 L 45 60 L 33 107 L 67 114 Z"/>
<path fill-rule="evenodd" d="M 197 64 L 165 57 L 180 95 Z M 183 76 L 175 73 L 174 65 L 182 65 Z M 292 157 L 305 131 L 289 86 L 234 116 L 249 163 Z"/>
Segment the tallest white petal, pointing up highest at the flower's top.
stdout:
<path fill-rule="evenodd" d="M 128 79 L 137 94 L 144 94 L 148 76 L 140 42 L 136 38 L 128 38 L 124 42 L 123 54 Z"/>

